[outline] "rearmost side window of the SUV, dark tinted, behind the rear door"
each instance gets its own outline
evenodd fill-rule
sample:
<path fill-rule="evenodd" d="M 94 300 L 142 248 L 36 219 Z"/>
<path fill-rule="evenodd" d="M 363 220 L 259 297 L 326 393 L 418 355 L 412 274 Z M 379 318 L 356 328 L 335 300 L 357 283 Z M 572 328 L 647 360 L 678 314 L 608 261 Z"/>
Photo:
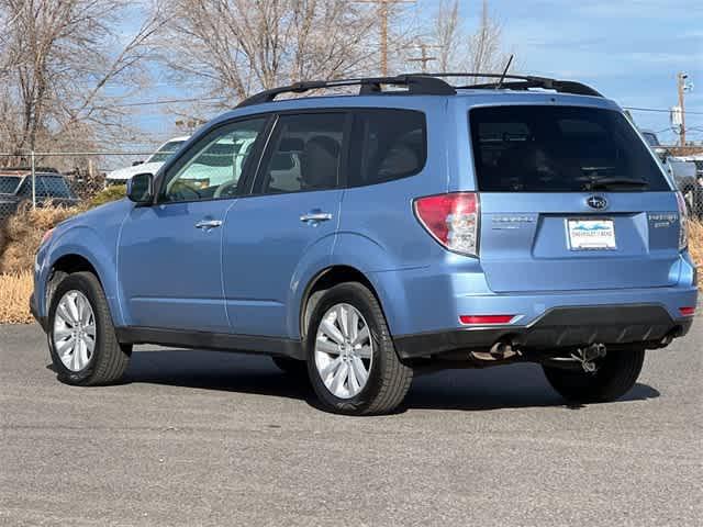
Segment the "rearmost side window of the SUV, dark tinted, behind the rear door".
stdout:
<path fill-rule="evenodd" d="M 420 172 L 427 158 L 425 115 L 412 110 L 355 112 L 350 187 Z"/>

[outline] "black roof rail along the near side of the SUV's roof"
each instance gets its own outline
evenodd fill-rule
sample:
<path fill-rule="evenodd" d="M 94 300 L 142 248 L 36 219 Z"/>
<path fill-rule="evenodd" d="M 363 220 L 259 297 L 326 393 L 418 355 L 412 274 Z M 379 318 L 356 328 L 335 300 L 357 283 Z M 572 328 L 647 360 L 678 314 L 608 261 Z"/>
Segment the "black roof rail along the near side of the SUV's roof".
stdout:
<path fill-rule="evenodd" d="M 304 93 L 310 90 L 359 86 L 359 94 L 382 93 L 381 86 L 405 86 L 408 93 L 420 96 L 454 96 L 456 90 L 439 78 L 428 75 L 399 75 L 395 77 L 366 77 L 359 79 L 310 80 L 272 88 L 256 93 L 237 104 L 237 108 L 271 102 L 281 93 Z"/>

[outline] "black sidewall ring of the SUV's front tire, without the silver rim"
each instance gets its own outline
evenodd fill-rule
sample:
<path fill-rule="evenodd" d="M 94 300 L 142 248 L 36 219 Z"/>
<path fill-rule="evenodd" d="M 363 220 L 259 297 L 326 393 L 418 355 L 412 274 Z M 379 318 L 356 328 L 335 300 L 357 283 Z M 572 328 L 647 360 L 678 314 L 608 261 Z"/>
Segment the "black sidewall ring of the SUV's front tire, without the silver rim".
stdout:
<path fill-rule="evenodd" d="M 93 354 L 90 358 L 88 367 L 80 371 L 71 371 L 66 368 L 54 346 L 53 333 L 56 310 L 58 307 L 59 301 L 68 291 L 80 291 L 88 299 L 96 321 L 96 347 L 93 349 Z M 81 273 L 69 274 L 68 277 L 66 277 L 56 287 L 56 290 L 54 291 L 54 294 L 52 296 L 48 310 L 48 332 L 46 334 L 48 339 L 48 349 L 58 378 L 68 384 L 82 384 L 88 381 L 92 377 L 96 367 L 100 362 L 100 356 L 104 352 L 103 336 L 105 330 L 105 321 L 103 321 L 100 315 L 102 313 L 102 310 L 98 309 L 100 302 L 104 302 L 101 298 L 100 292 L 96 291 L 93 283 Z"/>

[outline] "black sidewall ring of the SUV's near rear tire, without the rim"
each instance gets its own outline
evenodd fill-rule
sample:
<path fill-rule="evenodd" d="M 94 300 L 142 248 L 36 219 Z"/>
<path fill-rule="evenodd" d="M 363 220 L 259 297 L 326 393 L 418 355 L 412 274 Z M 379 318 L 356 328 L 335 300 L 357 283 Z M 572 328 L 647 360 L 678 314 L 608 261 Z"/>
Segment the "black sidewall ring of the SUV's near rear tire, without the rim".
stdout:
<path fill-rule="evenodd" d="M 317 305 L 310 318 L 310 327 L 305 338 L 305 350 L 308 357 L 308 374 L 310 382 L 317 396 L 325 406 L 342 413 L 359 413 L 367 408 L 378 395 L 382 385 L 382 374 L 388 361 L 388 354 L 395 352 L 390 339 L 390 334 L 386 319 L 382 318 L 380 306 L 372 305 L 368 295 L 365 294 L 366 288 L 360 284 L 343 283 L 327 291 Z M 364 389 L 350 399 L 339 399 L 334 395 L 320 378 L 317 367 L 315 365 L 315 338 L 317 328 L 322 322 L 322 316 L 336 304 L 349 304 L 356 307 L 369 328 L 369 335 L 372 343 L 372 361 L 371 371 Z M 381 316 L 381 319 L 379 318 Z M 389 349 L 390 347 L 390 349 Z"/>

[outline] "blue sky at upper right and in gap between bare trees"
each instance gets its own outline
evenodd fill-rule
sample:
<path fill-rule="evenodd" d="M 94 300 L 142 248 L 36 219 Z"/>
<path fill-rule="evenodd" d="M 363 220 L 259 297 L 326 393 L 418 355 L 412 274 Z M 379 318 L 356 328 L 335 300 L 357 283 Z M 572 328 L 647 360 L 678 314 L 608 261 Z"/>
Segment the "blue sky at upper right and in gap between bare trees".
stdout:
<path fill-rule="evenodd" d="M 436 5 L 419 0 L 409 9 L 422 15 Z M 481 0 L 461 0 L 469 29 L 480 7 Z M 687 96 L 689 138 L 703 141 L 703 0 L 490 0 L 489 8 L 522 72 L 580 80 L 624 106 L 669 109 L 677 103 L 677 72 L 687 71 L 698 85 Z M 193 94 L 158 80 L 144 99 Z M 141 113 L 159 138 L 170 134 L 172 119 L 159 108 Z M 633 115 L 661 139 L 676 141 L 667 112 Z"/>

